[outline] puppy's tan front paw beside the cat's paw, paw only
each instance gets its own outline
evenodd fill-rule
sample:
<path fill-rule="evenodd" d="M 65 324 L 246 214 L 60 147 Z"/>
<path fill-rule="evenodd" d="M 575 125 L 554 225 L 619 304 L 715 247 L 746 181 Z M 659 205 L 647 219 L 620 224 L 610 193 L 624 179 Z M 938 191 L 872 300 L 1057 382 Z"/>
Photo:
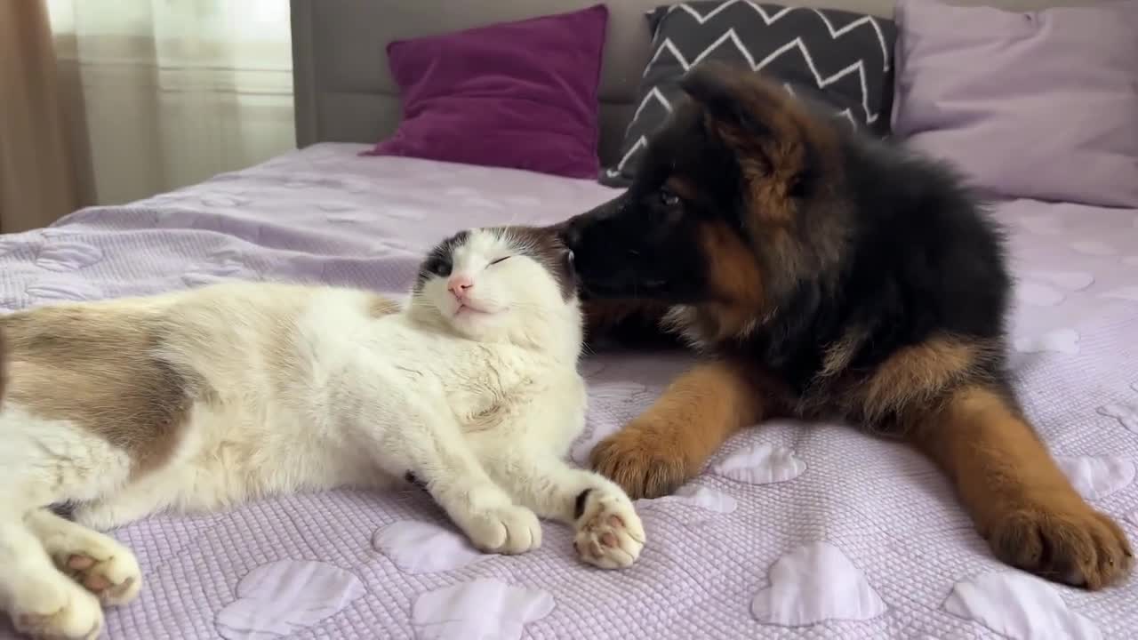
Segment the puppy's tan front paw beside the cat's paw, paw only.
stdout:
<path fill-rule="evenodd" d="M 630 422 L 593 448 L 591 466 L 633 500 L 670 494 L 690 479 L 687 461 L 683 451 L 655 432 L 649 425 Z"/>

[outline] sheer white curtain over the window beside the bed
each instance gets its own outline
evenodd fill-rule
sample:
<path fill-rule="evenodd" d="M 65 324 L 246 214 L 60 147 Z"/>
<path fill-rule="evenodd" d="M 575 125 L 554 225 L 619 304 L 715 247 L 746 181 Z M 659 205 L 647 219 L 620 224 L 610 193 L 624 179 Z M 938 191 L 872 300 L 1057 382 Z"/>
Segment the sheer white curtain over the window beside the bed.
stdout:
<path fill-rule="evenodd" d="M 295 147 L 288 0 L 48 0 L 88 202 Z"/>

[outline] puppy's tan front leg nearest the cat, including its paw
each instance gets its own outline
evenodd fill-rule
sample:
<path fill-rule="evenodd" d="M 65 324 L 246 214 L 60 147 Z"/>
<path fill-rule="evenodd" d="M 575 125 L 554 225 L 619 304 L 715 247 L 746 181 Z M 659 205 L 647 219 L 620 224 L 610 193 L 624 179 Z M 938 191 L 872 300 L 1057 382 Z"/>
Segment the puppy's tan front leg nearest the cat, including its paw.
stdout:
<path fill-rule="evenodd" d="M 636 500 L 675 491 L 719 445 L 768 417 L 759 381 L 726 362 L 678 377 L 644 413 L 593 449 L 594 469 Z"/>

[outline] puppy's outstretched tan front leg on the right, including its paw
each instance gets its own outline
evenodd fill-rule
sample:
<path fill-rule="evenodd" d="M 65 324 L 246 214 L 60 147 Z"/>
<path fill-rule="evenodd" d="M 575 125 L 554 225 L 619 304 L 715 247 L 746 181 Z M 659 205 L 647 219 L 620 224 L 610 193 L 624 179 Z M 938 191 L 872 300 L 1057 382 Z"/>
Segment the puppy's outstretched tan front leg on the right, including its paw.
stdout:
<path fill-rule="evenodd" d="M 1004 394 L 981 386 L 956 392 L 913 441 L 951 478 L 1000 560 L 1088 589 L 1129 572 L 1125 534 L 1079 495 Z"/>

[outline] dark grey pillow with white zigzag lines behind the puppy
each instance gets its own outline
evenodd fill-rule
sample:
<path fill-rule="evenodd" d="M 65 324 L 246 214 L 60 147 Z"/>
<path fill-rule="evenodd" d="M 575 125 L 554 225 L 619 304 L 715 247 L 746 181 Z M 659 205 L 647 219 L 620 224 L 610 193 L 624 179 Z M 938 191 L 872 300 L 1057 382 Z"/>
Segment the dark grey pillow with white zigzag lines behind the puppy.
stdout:
<path fill-rule="evenodd" d="M 787 91 L 832 107 L 835 117 L 877 136 L 889 132 L 893 101 L 892 20 L 834 9 L 708 0 L 648 13 L 652 57 L 636 113 L 616 165 L 600 181 L 627 187 L 646 138 L 663 123 L 678 81 L 706 59 L 745 61 L 774 75 Z"/>

